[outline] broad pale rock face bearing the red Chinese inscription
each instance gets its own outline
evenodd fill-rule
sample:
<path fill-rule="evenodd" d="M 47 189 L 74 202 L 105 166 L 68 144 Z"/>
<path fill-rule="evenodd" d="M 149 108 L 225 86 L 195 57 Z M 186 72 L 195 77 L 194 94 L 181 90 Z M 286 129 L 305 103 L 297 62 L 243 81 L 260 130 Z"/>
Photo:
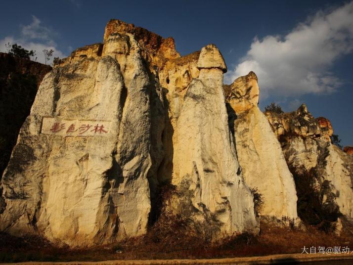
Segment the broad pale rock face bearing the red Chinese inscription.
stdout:
<path fill-rule="evenodd" d="M 130 34 L 107 38 L 102 57 L 66 61 L 44 78 L 2 177 L 0 230 L 70 246 L 144 234 L 163 157 L 162 91 Z M 44 117 L 104 121 L 109 133 L 44 134 Z"/>

